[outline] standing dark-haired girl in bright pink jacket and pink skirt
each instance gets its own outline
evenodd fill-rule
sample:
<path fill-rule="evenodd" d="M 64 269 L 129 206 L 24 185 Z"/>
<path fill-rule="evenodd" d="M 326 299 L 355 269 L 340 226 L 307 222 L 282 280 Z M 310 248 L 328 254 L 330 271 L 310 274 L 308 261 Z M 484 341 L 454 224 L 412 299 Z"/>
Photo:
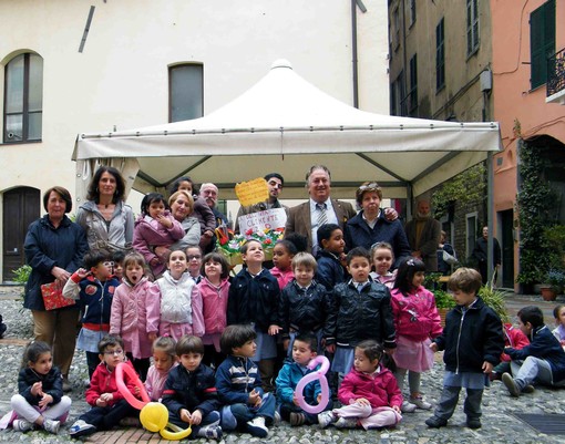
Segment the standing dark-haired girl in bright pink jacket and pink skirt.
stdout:
<path fill-rule="evenodd" d="M 430 343 L 442 332 L 433 293 L 422 287 L 424 270 L 425 266 L 421 260 L 415 258 L 404 260 L 398 269 L 394 288 L 391 291 L 392 314 L 397 330 L 397 351 L 393 355 L 397 363 L 394 376 L 402 390 L 408 372 L 410 402 L 402 403 L 402 411 L 409 413 L 415 409 L 432 407 L 420 393 L 420 374 L 432 368 L 433 352 Z"/>

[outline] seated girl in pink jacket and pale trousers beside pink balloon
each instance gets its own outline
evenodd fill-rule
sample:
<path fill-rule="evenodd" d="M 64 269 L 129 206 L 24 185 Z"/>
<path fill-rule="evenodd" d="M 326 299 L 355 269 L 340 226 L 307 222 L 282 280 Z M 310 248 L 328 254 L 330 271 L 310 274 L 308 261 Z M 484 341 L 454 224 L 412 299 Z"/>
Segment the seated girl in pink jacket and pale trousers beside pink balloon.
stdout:
<path fill-rule="evenodd" d="M 355 349 L 353 369 L 339 388 L 340 409 L 322 412 L 318 422 L 322 428 L 364 430 L 396 425 L 401 419 L 402 393 L 392 372 L 386 368 L 388 354 L 373 340 L 360 342 Z"/>

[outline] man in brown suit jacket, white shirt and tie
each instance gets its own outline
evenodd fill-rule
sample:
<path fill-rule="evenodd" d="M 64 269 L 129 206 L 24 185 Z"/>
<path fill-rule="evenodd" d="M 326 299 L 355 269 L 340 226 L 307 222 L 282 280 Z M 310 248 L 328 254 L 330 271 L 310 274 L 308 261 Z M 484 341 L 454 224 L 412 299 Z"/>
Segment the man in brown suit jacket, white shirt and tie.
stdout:
<path fill-rule="evenodd" d="M 290 208 L 285 227 L 285 236 L 298 233 L 306 236 L 308 248 L 316 255 L 318 250 L 318 220 L 320 211 L 325 211 L 326 224 L 337 224 L 343 229 L 346 223 L 357 213 L 347 202 L 332 199 L 331 177 L 323 165 L 314 165 L 306 175 L 306 187 L 310 198 L 304 204 Z"/>

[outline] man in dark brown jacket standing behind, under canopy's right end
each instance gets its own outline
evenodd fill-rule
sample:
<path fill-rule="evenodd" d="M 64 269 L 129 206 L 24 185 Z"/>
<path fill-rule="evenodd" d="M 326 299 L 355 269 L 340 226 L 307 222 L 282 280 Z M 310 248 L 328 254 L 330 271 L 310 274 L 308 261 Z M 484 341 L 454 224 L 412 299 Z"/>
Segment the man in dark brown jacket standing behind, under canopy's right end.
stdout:
<path fill-rule="evenodd" d="M 438 246 L 441 238 L 441 224 L 432 217 L 430 203 L 419 200 L 415 216 L 404 230 L 412 249 L 412 257 L 425 264 L 425 271 L 438 271 Z"/>

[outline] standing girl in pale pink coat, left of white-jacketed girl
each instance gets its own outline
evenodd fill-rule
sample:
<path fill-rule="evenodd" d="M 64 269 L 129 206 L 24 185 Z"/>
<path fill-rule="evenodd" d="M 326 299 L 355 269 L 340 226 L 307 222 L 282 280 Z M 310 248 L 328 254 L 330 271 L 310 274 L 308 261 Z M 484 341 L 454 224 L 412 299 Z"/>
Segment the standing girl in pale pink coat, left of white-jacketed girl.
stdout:
<path fill-rule="evenodd" d="M 142 381 L 150 368 L 151 347 L 157 338 L 160 300 L 151 292 L 145 260 L 138 252 L 124 259 L 124 278 L 112 300 L 110 334 L 122 337 L 127 358 Z"/>

